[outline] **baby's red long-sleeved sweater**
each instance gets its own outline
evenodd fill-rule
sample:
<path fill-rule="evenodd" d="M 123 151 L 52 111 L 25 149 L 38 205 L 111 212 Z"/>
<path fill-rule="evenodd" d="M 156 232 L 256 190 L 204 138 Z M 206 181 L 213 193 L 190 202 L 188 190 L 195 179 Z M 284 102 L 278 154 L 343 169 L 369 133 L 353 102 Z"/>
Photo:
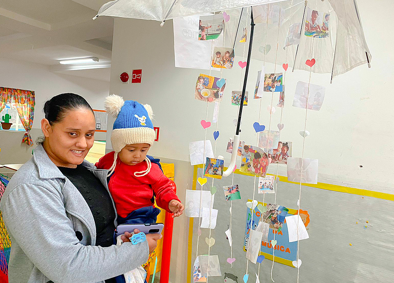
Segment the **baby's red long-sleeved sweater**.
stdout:
<path fill-rule="evenodd" d="M 110 152 L 100 158 L 95 166 L 99 169 L 109 169 L 113 163 L 113 155 Z M 125 218 L 132 211 L 141 207 L 153 205 L 153 193 L 159 207 L 172 213 L 168 209 L 171 200 L 179 200 L 172 189 L 170 180 L 163 174 L 157 164 L 152 163 L 151 171 L 142 177 L 134 176 L 134 172 L 147 169 L 147 162 L 143 161 L 136 165 L 127 165 L 119 157 L 116 160 L 108 188 L 115 202 L 118 215 Z"/>

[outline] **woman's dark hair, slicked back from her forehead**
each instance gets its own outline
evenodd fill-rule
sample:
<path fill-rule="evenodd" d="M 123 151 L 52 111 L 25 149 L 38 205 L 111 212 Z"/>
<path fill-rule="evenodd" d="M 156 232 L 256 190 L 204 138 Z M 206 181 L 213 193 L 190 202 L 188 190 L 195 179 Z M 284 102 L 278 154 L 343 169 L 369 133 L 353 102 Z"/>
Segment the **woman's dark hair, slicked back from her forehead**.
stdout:
<path fill-rule="evenodd" d="M 92 107 L 90 107 L 85 98 L 75 93 L 61 93 L 52 97 L 45 102 L 43 111 L 45 113 L 45 118 L 52 126 L 53 124 L 61 122 L 67 112 L 74 109 L 90 109 L 93 112 Z M 44 138 L 39 137 L 36 143 L 42 144 L 43 141 Z"/>

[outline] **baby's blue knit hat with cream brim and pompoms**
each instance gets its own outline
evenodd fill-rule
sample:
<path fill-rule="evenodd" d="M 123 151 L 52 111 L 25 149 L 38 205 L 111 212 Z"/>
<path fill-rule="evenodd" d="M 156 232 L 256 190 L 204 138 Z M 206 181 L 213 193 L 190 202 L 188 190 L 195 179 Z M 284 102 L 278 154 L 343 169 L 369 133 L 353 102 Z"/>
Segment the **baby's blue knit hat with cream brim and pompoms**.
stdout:
<path fill-rule="evenodd" d="M 124 101 L 122 97 L 112 94 L 105 100 L 106 111 L 116 118 L 111 133 L 112 148 L 115 150 L 114 164 L 117 154 L 127 144 L 147 143 L 152 145 L 155 139 L 152 117 L 153 111 L 149 104 L 139 104 L 134 100 Z M 147 161 L 148 162 L 148 161 Z"/>

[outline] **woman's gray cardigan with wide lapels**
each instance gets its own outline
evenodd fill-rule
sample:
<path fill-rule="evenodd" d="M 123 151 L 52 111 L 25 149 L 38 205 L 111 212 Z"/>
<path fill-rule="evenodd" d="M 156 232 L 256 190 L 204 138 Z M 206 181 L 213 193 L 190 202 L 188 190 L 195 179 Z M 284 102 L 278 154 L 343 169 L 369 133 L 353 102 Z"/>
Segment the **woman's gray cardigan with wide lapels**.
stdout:
<path fill-rule="evenodd" d="M 108 190 L 107 170 L 87 161 L 82 165 Z M 95 246 L 96 226 L 89 206 L 41 145 L 9 181 L 0 209 L 11 238 L 9 283 L 103 282 L 148 259 L 147 241 Z"/>

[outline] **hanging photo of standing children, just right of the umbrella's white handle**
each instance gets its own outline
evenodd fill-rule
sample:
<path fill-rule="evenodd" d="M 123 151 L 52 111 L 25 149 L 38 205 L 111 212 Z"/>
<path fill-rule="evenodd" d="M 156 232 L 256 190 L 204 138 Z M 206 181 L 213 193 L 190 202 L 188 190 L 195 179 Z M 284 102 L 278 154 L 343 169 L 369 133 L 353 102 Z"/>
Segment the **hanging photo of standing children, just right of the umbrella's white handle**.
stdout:
<path fill-rule="evenodd" d="M 240 171 L 259 177 L 265 177 L 269 165 L 268 155 L 257 146 L 244 145 Z"/>

